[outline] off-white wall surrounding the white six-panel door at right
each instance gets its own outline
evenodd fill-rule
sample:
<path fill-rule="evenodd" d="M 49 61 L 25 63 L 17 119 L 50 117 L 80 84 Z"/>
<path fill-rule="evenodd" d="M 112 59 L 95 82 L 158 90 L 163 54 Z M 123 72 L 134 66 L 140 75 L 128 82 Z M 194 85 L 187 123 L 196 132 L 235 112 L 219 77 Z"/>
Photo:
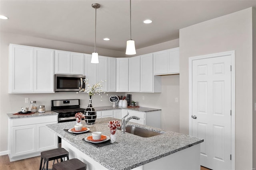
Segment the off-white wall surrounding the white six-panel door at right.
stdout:
<path fill-rule="evenodd" d="M 253 160 L 252 8 L 180 29 L 180 133 L 188 134 L 188 58 L 232 50 L 235 50 L 236 67 L 235 168 L 250 170 Z"/>

